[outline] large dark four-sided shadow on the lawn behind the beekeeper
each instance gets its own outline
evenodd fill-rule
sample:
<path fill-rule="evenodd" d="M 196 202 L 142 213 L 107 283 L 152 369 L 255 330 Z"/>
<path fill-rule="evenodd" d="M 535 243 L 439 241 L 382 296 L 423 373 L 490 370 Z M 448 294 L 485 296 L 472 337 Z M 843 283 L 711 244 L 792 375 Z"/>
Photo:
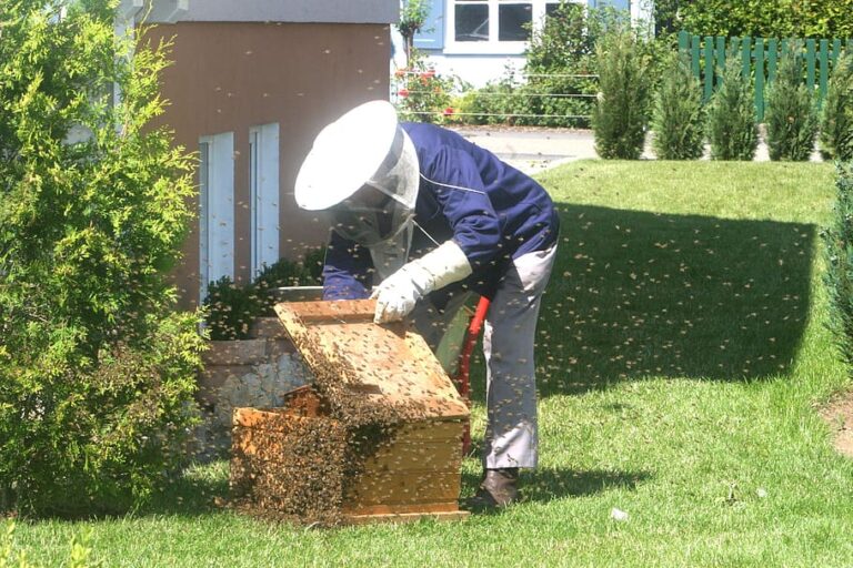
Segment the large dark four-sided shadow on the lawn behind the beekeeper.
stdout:
<path fill-rule="evenodd" d="M 806 326 L 814 225 L 565 204 L 560 213 L 536 337 L 542 396 L 790 369 Z"/>

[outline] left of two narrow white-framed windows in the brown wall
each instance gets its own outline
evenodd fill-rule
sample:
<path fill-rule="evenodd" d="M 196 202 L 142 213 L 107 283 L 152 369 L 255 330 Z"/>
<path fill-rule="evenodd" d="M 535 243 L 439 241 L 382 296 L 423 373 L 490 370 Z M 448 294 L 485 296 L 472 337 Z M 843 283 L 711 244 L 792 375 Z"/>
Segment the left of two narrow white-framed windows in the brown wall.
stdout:
<path fill-rule="evenodd" d="M 234 133 L 199 139 L 200 301 L 208 284 L 234 277 Z"/>

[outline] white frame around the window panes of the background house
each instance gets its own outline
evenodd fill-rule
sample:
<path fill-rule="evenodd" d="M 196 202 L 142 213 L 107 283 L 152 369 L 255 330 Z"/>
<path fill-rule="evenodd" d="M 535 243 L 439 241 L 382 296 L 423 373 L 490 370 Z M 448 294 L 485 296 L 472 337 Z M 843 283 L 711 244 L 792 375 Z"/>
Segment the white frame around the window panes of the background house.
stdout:
<path fill-rule="evenodd" d="M 585 6 L 583 0 L 571 0 Z M 456 41 L 456 3 L 486 4 L 489 7 L 489 40 L 488 41 Z M 485 2 L 471 2 L 470 0 L 450 0 L 444 14 L 444 53 L 446 54 L 500 54 L 521 55 L 530 45 L 529 41 L 500 41 L 498 40 L 500 28 L 498 12 L 500 4 L 530 3 L 532 4 L 532 22 L 534 33 L 542 26 L 545 17 L 545 6 L 559 3 L 556 0 L 486 0 Z"/>

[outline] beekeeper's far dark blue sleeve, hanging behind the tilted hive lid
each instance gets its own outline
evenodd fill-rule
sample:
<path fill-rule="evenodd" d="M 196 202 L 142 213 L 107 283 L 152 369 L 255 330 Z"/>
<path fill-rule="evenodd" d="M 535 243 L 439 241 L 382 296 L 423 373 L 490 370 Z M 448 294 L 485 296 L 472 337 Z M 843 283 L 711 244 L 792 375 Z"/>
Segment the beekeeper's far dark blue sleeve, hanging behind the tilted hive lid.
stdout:
<path fill-rule="evenodd" d="M 323 300 L 363 300 L 370 295 L 370 251 L 332 231 L 323 265 Z"/>

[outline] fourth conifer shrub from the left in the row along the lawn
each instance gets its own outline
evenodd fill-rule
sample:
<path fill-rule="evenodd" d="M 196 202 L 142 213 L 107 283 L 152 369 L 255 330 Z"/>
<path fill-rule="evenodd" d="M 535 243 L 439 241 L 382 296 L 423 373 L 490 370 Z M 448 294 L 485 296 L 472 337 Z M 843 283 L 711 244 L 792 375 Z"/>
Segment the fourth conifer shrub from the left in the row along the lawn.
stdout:
<path fill-rule="evenodd" d="M 804 162 L 814 150 L 817 115 L 812 91 L 803 82 L 802 45 L 793 42 L 783 53 L 775 81 L 767 88 L 767 129 L 770 159 Z"/>

